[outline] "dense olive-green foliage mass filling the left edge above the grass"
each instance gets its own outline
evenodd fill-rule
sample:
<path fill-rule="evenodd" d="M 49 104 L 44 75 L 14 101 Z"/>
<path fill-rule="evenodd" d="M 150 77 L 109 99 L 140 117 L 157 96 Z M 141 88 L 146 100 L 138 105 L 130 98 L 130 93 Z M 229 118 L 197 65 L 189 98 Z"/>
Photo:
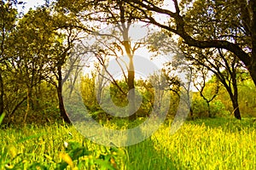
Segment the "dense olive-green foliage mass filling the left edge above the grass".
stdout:
<path fill-rule="evenodd" d="M 46 82 L 55 82 L 52 77 L 63 50 L 62 33 L 56 31 L 49 9 L 31 9 L 18 18 L 11 2 L 0 4 L 4 31 L 0 34 L 3 123 L 49 122 L 58 118 L 58 108 L 55 89 Z"/>

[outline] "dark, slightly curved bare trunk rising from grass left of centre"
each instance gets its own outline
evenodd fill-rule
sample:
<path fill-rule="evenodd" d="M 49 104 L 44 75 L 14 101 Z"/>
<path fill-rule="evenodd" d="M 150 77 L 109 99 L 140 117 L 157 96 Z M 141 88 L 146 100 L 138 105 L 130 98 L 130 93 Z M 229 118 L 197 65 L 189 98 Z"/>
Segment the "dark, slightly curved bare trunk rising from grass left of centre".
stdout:
<path fill-rule="evenodd" d="M 68 118 L 68 116 L 67 116 L 67 112 L 65 110 L 65 106 L 64 106 L 64 102 L 63 102 L 63 97 L 62 97 L 61 65 L 57 66 L 57 71 L 58 71 L 57 94 L 58 94 L 58 99 L 59 99 L 59 108 L 60 108 L 61 117 L 63 118 L 64 122 L 71 123 L 69 118 Z"/>

